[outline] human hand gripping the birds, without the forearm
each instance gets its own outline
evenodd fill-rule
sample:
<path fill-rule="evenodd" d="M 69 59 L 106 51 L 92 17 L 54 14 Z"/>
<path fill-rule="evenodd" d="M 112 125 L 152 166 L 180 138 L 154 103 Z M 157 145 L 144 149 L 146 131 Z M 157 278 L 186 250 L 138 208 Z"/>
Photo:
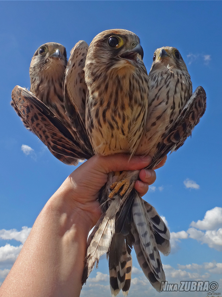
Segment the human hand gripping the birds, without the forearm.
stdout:
<path fill-rule="evenodd" d="M 93 225 L 101 214 L 96 199 L 99 190 L 107 182 L 107 174 L 111 171 L 139 170 L 147 167 L 150 162 L 151 157 L 149 156 L 133 156 L 130 161 L 129 156 L 124 154 L 105 157 L 93 156 L 70 174 L 59 191 L 65 193 L 65 200 L 70 204 L 70 207 L 78 207 L 86 212 L 88 214 L 86 218 L 89 218 Z M 135 189 L 142 196 L 147 192 L 149 185 L 154 183 L 156 174 L 154 170 L 143 169 L 139 177 L 141 181 L 136 181 Z"/>

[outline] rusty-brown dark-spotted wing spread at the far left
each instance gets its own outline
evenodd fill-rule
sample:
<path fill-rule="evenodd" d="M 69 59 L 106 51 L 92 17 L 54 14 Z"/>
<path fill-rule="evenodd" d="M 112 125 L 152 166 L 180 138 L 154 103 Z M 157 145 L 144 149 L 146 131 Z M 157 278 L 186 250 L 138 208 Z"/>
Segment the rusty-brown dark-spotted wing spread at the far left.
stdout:
<path fill-rule="evenodd" d="M 89 159 L 88 151 L 80 149 L 55 114 L 31 92 L 20 86 L 12 90 L 11 105 L 22 119 L 25 127 L 31 130 L 60 161 L 76 165 L 78 159 Z"/>

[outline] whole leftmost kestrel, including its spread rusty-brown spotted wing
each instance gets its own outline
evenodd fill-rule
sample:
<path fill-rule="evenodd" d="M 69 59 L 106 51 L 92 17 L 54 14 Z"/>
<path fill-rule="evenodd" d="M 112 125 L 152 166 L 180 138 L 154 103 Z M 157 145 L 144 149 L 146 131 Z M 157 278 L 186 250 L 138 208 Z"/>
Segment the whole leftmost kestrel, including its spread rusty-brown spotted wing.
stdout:
<path fill-rule="evenodd" d="M 55 157 L 65 164 L 77 165 L 78 158 L 88 159 L 92 156 L 92 149 L 89 141 L 77 131 L 78 125 L 72 125 L 66 116 L 62 89 L 66 65 L 67 54 L 63 45 L 56 42 L 41 45 L 34 53 L 29 69 L 30 92 L 36 98 L 28 90 L 19 88 L 15 90 L 15 96 L 22 93 L 23 101 L 14 100 L 11 104 L 18 115 L 21 114 L 18 108 L 22 108 L 23 115 L 28 114 L 28 117 L 22 118 L 23 123 L 46 144 Z M 71 140 L 66 153 L 61 144 L 67 141 L 64 136 Z"/>

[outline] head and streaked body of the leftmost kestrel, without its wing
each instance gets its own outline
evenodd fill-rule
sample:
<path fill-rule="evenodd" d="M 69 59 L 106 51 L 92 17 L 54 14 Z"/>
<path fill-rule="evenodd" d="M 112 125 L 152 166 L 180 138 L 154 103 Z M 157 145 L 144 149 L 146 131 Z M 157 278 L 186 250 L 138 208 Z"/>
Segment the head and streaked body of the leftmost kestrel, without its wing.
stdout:
<path fill-rule="evenodd" d="M 89 141 L 87 142 L 88 138 L 84 137 L 86 132 L 83 131 L 83 125 L 80 127 L 78 121 L 73 124 L 70 122 L 70 117 L 66 115 L 65 105 L 67 107 L 68 97 L 65 102 L 63 99 L 66 65 L 67 54 L 63 45 L 56 42 L 41 45 L 34 53 L 30 64 L 30 91 L 57 116 L 73 138 L 78 141 L 79 147 L 82 150 L 88 150 L 90 154 L 91 145 Z M 78 98 L 76 97 L 75 100 L 78 101 Z M 73 112 L 72 119 L 77 115 Z M 75 163 L 77 162 L 78 160 Z"/>

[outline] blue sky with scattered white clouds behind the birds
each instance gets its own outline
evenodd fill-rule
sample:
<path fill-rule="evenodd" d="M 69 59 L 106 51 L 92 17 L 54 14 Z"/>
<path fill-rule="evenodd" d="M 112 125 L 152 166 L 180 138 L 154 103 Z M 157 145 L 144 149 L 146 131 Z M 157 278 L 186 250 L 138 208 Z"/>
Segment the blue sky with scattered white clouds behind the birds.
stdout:
<path fill-rule="evenodd" d="M 121 28 L 140 37 L 148 71 L 156 48 L 177 47 L 193 88 L 201 85 L 207 93 L 207 110 L 192 138 L 157 170 L 157 180 L 145 199 L 165 217 L 172 233 L 172 253 L 162 256 L 169 283 L 216 281 L 222 293 L 222 2 L 0 1 L 0 11 L 0 283 L 44 204 L 75 169 L 53 157 L 24 128 L 9 104 L 11 91 L 15 85 L 30 87 L 31 58 L 45 42 L 62 43 L 69 53 L 79 40 L 89 44 L 99 32 Z M 27 151 L 26 146 L 32 150 Z M 135 257 L 133 266 L 128 296 L 135 292 L 137 296 L 158 296 Z M 111 296 L 107 274 L 104 259 L 81 296 Z"/>

